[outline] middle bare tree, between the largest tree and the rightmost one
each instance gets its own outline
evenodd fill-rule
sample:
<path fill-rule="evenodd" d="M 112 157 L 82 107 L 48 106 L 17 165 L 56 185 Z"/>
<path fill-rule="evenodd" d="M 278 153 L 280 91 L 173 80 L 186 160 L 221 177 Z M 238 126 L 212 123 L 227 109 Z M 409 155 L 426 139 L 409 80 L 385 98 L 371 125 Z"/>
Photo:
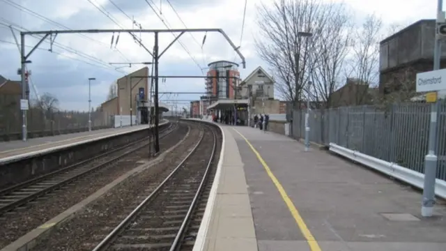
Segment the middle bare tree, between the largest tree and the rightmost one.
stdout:
<path fill-rule="evenodd" d="M 352 16 L 346 6 L 339 4 L 332 7 L 320 39 L 314 44 L 314 67 L 312 68 L 312 99 L 323 102 L 323 107 L 332 105 L 332 93 L 340 86 L 344 62 L 349 52 L 353 31 Z M 311 98 L 311 97 L 310 97 Z M 336 100 L 334 100 L 336 102 Z"/>

